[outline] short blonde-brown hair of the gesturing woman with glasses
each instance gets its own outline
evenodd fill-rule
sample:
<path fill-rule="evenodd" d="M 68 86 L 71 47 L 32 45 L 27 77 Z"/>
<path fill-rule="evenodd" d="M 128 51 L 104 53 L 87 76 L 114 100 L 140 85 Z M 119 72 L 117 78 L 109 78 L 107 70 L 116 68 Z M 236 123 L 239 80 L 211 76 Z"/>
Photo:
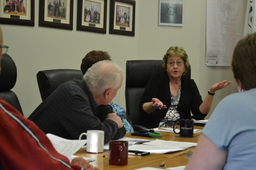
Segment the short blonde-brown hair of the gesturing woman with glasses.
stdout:
<path fill-rule="evenodd" d="M 183 73 L 183 75 L 184 75 L 186 73 L 186 71 L 188 70 L 189 62 L 188 62 L 188 55 L 187 55 L 187 53 L 186 53 L 186 51 L 184 50 L 183 47 L 170 47 L 166 51 L 166 53 L 163 57 L 163 61 L 162 61 L 163 69 L 164 70 L 167 69 L 167 60 L 168 60 L 168 58 L 174 57 L 175 55 L 178 55 L 184 61 L 184 64 L 185 64 L 185 71 Z"/>

